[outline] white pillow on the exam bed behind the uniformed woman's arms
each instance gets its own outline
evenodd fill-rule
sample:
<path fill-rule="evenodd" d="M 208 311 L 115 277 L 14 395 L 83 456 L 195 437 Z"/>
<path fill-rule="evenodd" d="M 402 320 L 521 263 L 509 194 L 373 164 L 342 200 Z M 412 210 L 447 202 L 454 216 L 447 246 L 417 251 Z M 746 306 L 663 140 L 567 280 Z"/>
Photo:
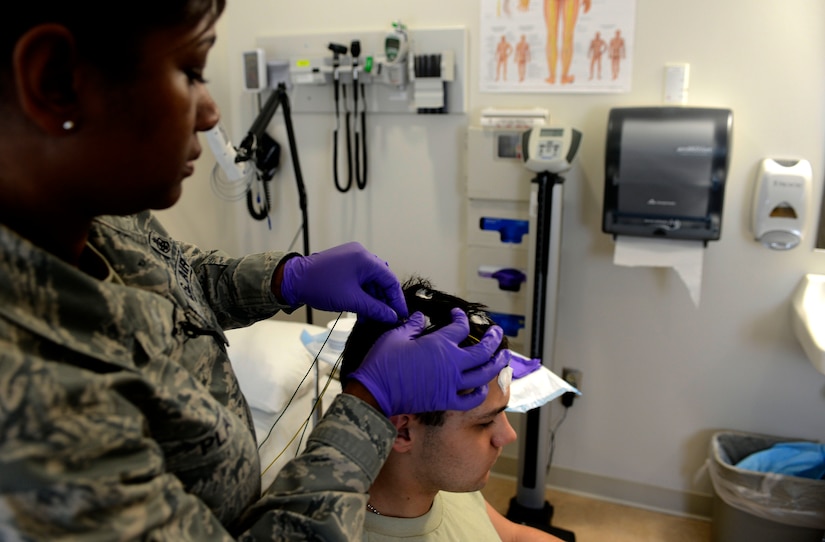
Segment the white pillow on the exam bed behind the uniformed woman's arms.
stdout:
<path fill-rule="evenodd" d="M 296 390 L 299 397 L 315 389 L 313 358 L 300 340 L 303 330 L 315 334 L 324 328 L 261 320 L 226 332 L 229 359 L 250 407 L 277 414 Z"/>

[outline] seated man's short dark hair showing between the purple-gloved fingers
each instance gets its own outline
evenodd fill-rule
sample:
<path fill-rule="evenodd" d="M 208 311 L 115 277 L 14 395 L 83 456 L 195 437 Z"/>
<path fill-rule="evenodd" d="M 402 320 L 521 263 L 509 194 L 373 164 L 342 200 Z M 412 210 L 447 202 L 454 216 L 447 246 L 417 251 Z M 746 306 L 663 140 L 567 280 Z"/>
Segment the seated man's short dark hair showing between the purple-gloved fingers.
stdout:
<path fill-rule="evenodd" d="M 411 277 L 401 286 L 407 308 L 410 314 L 421 312 L 427 317 L 427 327 L 422 335 L 432 333 L 452 323 L 450 311 L 459 308 L 467 315 L 470 324 L 470 335 L 460 343 L 460 346 L 470 346 L 477 343 L 494 322 L 487 314 L 487 307 L 481 303 L 472 303 L 433 289 L 432 284 L 420 277 Z M 387 331 L 396 327 L 373 320 L 359 320 L 352 328 L 347 344 L 344 347 L 341 361 L 341 381 L 346 383 L 347 378 L 360 365 L 375 344 L 378 338 Z M 507 337 L 503 337 L 496 352 L 508 348 Z M 444 423 L 444 411 L 417 413 L 421 423 L 425 425 L 441 425 Z"/>

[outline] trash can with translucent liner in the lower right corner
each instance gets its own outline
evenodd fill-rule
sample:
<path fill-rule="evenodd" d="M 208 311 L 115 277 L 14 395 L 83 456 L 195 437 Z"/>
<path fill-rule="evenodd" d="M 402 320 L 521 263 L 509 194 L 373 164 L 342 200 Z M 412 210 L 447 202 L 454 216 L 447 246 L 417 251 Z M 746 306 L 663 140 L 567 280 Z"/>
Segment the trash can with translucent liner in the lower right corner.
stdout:
<path fill-rule="evenodd" d="M 792 439 L 719 432 L 710 444 L 713 542 L 822 542 L 825 480 L 754 472 L 735 465 Z"/>

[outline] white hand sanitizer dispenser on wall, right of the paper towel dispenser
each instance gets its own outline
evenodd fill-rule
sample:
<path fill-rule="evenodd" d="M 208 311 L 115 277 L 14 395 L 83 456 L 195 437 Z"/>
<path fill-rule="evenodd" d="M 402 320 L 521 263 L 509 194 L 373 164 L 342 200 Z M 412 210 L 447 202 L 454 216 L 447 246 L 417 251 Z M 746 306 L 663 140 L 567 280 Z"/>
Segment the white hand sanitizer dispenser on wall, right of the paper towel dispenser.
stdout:
<path fill-rule="evenodd" d="M 788 250 L 802 240 L 811 199 L 807 160 L 766 158 L 759 166 L 753 200 L 753 235 L 768 248 Z"/>

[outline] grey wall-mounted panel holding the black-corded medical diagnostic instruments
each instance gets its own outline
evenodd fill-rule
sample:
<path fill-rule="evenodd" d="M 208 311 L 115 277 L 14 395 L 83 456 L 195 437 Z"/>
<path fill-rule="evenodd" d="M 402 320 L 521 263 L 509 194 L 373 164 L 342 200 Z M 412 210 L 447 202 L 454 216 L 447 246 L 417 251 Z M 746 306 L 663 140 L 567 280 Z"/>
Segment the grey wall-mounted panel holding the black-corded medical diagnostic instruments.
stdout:
<path fill-rule="evenodd" d="M 265 36 L 257 39 L 256 47 L 266 56 L 269 86 L 286 83 L 295 113 L 335 112 L 336 62 L 338 80 L 347 86 L 350 100 L 356 68 L 355 78 L 364 83 L 359 99 L 366 102 L 367 113 L 466 113 L 466 29 L 408 28 L 406 34 L 403 62 L 388 60 L 386 30 Z M 354 40 L 360 48 L 355 57 Z M 347 52 L 335 59 L 331 44 Z"/>

